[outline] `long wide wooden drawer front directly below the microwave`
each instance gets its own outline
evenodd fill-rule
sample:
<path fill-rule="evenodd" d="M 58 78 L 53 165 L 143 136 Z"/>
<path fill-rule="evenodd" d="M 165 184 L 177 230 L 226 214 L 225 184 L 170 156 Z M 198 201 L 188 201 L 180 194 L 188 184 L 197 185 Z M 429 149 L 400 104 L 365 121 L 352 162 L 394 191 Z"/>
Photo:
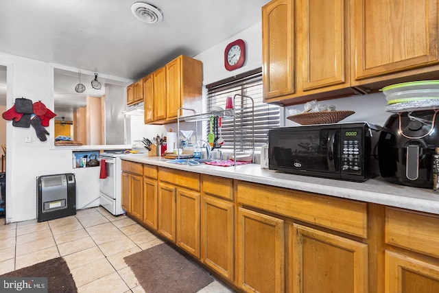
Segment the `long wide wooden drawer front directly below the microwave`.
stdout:
<path fill-rule="evenodd" d="M 367 238 L 367 204 L 239 181 L 240 204 Z"/>

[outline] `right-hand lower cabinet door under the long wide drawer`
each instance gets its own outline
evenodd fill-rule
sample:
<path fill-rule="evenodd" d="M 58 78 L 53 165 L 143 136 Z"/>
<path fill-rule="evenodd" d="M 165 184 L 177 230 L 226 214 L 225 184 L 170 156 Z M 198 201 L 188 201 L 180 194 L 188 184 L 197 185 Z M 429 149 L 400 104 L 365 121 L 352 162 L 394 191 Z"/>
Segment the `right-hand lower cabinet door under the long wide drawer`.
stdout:
<path fill-rule="evenodd" d="M 368 247 L 330 233 L 294 224 L 292 292 L 368 293 Z"/>

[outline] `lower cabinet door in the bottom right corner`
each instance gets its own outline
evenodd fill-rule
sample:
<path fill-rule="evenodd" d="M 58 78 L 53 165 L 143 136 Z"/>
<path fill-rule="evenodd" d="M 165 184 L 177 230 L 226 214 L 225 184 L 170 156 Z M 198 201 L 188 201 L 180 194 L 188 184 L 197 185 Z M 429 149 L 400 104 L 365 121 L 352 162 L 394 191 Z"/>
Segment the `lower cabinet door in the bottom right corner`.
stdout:
<path fill-rule="evenodd" d="M 386 250 L 385 292 L 439 292 L 439 266 Z"/>

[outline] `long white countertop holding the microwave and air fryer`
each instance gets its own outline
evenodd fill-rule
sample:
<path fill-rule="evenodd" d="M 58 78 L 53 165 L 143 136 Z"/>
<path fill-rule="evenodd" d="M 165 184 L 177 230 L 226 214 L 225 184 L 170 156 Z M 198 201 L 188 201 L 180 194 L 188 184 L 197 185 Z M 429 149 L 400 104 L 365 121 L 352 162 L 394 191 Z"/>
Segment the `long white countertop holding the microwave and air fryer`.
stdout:
<path fill-rule="evenodd" d="M 244 180 L 252 183 L 309 191 L 316 194 L 336 196 L 338 198 L 350 198 L 364 202 L 385 204 L 392 207 L 412 209 L 414 211 L 439 214 L 439 194 L 434 194 L 431 189 L 388 183 L 381 177 L 369 179 L 364 183 L 355 183 L 344 180 L 285 174 L 274 170 L 261 169 L 258 164 L 239 165 L 235 167 L 219 167 L 204 164 L 187 166 L 166 163 L 166 161 L 169 160 L 158 156 L 139 154 L 135 156 L 121 156 L 121 159 L 200 174 Z"/>

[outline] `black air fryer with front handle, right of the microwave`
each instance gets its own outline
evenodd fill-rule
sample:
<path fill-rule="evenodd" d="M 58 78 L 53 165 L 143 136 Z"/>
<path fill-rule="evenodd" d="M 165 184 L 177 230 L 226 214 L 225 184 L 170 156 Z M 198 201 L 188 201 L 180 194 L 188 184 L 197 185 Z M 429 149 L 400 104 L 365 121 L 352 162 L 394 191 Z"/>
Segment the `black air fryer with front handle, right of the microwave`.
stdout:
<path fill-rule="evenodd" d="M 391 183 L 433 187 L 433 155 L 439 147 L 439 110 L 394 114 L 378 143 L 381 177 Z"/>

